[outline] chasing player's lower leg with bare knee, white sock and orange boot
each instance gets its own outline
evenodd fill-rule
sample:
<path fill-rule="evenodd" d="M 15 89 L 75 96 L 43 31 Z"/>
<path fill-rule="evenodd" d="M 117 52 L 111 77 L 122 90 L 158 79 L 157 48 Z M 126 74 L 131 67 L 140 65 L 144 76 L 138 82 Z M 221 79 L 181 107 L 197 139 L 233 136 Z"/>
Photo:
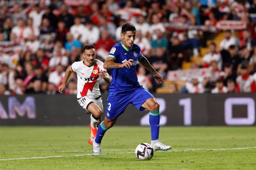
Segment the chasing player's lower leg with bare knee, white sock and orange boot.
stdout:
<path fill-rule="evenodd" d="M 102 109 L 94 102 L 91 102 L 87 106 L 87 110 L 91 114 L 91 124 L 89 125 L 91 131 L 91 137 L 88 140 L 88 143 L 92 145 L 92 139 L 96 137 L 97 134 L 97 123 L 101 121 Z"/>

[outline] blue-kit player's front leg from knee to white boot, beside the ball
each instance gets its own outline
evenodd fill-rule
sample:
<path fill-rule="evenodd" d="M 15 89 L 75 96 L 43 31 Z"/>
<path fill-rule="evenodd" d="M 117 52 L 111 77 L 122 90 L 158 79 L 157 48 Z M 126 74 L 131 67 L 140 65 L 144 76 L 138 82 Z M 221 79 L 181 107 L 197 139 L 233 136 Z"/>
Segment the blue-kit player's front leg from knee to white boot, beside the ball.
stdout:
<path fill-rule="evenodd" d="M 168 150 L 171 146 L 166 146 L 158 141 L 160 129 L 159 103 L 155 98 L 148 98 L 141 107 L 150 111 L 150 129 L 151 129 L 151 146 L 154 150 Z"/>

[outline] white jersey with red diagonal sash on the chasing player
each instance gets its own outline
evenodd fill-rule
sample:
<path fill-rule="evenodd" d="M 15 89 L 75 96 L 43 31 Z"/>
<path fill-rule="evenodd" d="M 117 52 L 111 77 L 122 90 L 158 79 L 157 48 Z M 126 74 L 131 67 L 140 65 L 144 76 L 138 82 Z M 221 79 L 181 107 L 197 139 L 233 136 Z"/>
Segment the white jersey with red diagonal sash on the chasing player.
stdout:
<path fill-rule="evenodd" d="M 103 68 L 103 62 L 95 59 L 93 65 L 88 67 L 83 61 L 74 62 L 71 68 L 77 74 L 77 98 L 83 96 L 90 96 L 91 98 L 97 98 L 101 95 L 99 91 L 99 72 L 106 71 Z"/>

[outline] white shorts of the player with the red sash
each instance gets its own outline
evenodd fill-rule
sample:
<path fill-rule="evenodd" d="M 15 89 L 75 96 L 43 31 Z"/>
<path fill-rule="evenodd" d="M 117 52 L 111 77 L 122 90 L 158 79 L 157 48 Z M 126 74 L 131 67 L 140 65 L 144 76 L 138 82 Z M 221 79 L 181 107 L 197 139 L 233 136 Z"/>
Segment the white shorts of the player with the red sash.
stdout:
<path fill-rule="evenodd" d="M 80 99 L 77 100 L 79 105 L 82 106 L 82 108 L 84 108 L 87 113 L 89 114 L 90 112 L 87 110 L 88 106 L 93 102 L 96 105 L 99 106 L 99 108 L 101 108 L 101 112 L 103 113 L 103 104 L 102 104 L 102 99 L 101 96 L 99 98 L 93 99 L 89 96 L 84 96 Z"/>

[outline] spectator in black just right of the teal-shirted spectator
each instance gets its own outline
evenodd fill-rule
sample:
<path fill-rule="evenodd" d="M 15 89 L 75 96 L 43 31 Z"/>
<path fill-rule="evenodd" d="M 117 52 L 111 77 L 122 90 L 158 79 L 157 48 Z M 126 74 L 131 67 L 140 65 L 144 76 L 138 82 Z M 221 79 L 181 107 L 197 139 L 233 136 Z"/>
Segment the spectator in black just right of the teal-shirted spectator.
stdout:
<path fill-rule="evenodd" d="M 184 60 L 183 47 L 180 44 L 180 40 L 177 36 L 171 39 L 169 47 L 169 68 L 171 70 L 176 69 L 174 65 L 177 65 L 178 69 L 181 69 L 182 62 Z"/>

